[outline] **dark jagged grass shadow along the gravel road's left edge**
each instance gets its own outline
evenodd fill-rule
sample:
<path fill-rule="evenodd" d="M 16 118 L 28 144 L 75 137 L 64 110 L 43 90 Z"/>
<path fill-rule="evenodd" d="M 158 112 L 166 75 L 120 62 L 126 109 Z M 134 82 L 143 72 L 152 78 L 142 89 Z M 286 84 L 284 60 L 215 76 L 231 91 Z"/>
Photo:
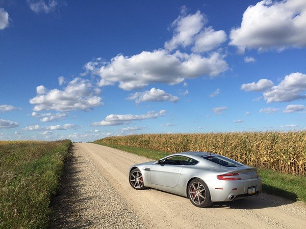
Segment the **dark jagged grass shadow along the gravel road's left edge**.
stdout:
<path fill-rule="evenodd" d="M 50 219 L 49 228 L 67 228 L 71 226 L 73 228 L 84 228 L 92 226 L 90 221 L 81 220 L 83 217 L 74 217 L 78 213 L 82 213 L 82 208 L 78 207 L 78 203 L 80 201 L 86 202 L 92 197 L 80 198 L 79 189 L 81 185 L 79 181 L 84 179 L 79 178 L 78 175 L 82 172 L 82 169 L 76 165 L 84 162 L 78 161 L 80 156 L 73 155 L 72 150 L 73 146 L 65 160 L 61 185 L 50 204 L 53 214 Z"/>

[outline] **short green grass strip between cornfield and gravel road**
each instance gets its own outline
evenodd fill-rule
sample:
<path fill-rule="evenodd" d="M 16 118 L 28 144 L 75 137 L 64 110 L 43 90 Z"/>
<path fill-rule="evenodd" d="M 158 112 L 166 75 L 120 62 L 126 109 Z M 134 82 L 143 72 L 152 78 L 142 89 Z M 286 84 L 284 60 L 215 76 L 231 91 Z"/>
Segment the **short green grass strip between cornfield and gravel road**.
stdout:
<path fill-rule="evenodd" d="M 141 155 L 154 160 L 158 160 L 169 155 L 167 152 L 157 150 L 106 144 L 97 141 L 94 143 Z M 283 196 L 285 198 L 291 199 L 292 201 L 306 202 L 306 177 L 283 174 L 268 169 L 258 169 L 258 171 L 263 182 L 263 192 Z"/>

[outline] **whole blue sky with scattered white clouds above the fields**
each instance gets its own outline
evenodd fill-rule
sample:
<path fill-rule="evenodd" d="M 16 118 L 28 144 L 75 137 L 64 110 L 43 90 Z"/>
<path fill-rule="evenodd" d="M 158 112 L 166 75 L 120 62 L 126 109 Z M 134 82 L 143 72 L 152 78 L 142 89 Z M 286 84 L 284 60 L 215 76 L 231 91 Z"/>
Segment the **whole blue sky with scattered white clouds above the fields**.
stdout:
<path fill-rule="evenodd" d="M 0 140 L 306 127 L 306 3 L 0 1 Z"/>

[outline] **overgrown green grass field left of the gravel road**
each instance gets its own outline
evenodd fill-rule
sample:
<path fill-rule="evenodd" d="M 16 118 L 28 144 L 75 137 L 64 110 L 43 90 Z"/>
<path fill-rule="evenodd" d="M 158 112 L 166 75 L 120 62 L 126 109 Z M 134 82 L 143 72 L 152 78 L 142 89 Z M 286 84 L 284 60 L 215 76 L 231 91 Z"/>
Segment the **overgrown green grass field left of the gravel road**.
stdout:
<path fill-rule="evenodd" d="M 70 140 L 0 141 L 0 228 L 45 228 Z"/>

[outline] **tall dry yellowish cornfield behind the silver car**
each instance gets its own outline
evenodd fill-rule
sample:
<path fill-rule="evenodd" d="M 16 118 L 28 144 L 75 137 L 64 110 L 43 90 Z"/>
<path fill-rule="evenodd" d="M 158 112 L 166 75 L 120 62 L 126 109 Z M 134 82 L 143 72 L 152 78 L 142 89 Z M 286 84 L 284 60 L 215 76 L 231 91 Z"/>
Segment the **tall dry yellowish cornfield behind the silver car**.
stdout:
<path fill-rule="evenodd" d="M 168 153 L 212 152 L 252 167 L 306 175 L 306 131 L 140 134 L 106 137 L 96 141 Z"/>

